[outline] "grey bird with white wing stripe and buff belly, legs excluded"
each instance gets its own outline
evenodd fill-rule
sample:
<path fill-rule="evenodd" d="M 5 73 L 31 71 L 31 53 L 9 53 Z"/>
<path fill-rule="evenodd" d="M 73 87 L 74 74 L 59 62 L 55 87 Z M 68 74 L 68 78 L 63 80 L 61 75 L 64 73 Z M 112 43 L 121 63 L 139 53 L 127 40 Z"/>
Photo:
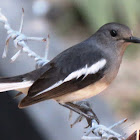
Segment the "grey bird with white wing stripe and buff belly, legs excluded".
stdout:
<path fill-rule="evenodd" d="M 131 43 L 140 43 L 140 38 L 134 37 L 128 26 L 107 23 L 43 67 L 23 75 L 0 78 L 0 92 L 25 93 L 19 108 L 49 99 L 65 106 L 91 98 L 115 79 L 124 52 Z"/>

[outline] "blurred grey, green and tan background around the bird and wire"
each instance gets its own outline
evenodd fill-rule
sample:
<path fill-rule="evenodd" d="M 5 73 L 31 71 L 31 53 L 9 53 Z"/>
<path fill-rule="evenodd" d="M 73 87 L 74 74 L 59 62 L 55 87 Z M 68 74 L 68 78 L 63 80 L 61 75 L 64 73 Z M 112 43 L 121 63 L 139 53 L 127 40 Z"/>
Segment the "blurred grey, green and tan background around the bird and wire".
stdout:
<path fill-rule="evenodd" d="M 25 9 L 23 32 L 28 36 L 50 35 L 49 59 L 91 36 L 108 22 L 128 25 L 140 37 L 140 2 L 138 0 L 0 0 L 0 8 L 13 29 L 18 30 L 21 9 Z M 0 23 L 0 56 L 7 37 Z M 43 56 L 45 43 L 28 42 L 30 48 Z M 10 42 L 8 57 L 0 59 L 0 75 L 15 76 L 35 69 L 35 62 L 26 54 L 16 62 L 10 58 L 17 52 Z M 118 128 L 130 135 L 140 126 L 140 45 L 127 48 L 118 77 L 103 93 L 89 99 L 93 110 L 104 125 L 123 118 L 128 123 Z M 1 140 L 79 140 L 86 121 L 70 128 L 69 110 L 50 100 L 20 110 L 15 93 L 0 94 Z M 75 114 L 73 117 L 76 117 Z M 122 131 L 123 130 L 123 131 Z"/>

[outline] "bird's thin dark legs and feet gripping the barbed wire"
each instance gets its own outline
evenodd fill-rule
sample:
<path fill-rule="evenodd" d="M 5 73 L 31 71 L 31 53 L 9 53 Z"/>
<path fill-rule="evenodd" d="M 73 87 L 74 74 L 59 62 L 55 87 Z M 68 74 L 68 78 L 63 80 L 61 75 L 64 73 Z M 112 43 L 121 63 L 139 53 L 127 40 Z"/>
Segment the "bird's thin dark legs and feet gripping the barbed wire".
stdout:
<path fill-rule="evenodd" d="M 68 102 L 61 105 L 80 114 L 80 117 L 78 117 L 79 119 L 77 118 L 74 124 L 81 121 L 81 117 L 85 117 L 89 125 L 91 125 L 93 119 L 95 119 L 99 124 L 99 119 L 97 118 L 96 114 L 93 112 L 93 110 L 90 107 L 90 104 L 87 101 L 81 101 L 77 104 Z"/>

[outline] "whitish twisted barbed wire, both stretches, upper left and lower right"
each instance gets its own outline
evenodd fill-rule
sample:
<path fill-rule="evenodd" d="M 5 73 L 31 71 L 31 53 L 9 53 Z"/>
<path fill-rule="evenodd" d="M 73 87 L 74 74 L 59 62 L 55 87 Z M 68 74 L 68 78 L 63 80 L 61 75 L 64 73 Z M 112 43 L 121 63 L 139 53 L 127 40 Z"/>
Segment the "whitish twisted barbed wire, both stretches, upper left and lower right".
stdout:
<path fill-rule="evenodd" d="M 24 21 L 24 9 L 22 9 L 22 17 L 21 17 L 19 31 L 12 29 L 10 27 L 10 24 L 8 23 L 7 18 L 2 14 L 1 9 L 0 9 L 0 22 L 4 24 L 4 28 L 7 30 L 7 34 L 8 34 L 2 58 L 5 58 L 7 56 L 9 40 L 13 39 L 14 46 L 19 50 L 11 58 L 12 62 L 15 61 L 18 58 L 18 56 L 24 52 L 24 53 L 27 53 L 29 57 L 32 57 L 35 59 L 37 67 L 42 67 L 43 65 L 49 62 L 49 60 L 47 59 L 48 47 L 49 47 L 49 35 L 47 39 L 41 38 L 41 37 L 27 37 L 26 35 L 22 33 L 23 21 Z M 42 58 L 39 55 L 37 55 L 35 52 L 33 52 L 26 44 L 27 41 L 47 41 L 45 57 Z M 80 115 L 71 126 L 82 121 L 82 119 L 83 119 L 83 116 Z M 98 124 L 95 119 L 92 119 L 90 120 L 91 121 L 90 128 L 86 132 L 86 134 L 82 137 L 82 140 L 123 140 L 124 138 L 120 134 L 113 131 L 112 129 L 114 127 L 117 127 L 123 124 L 124 122 L 126 122 L 126 120 L 127 119 L 121 120 L 110 127 L 106 127 L 104 125 Z M 93 137 L 89 136 L 91 132 L 93 132 L 94 134 Z"/>

